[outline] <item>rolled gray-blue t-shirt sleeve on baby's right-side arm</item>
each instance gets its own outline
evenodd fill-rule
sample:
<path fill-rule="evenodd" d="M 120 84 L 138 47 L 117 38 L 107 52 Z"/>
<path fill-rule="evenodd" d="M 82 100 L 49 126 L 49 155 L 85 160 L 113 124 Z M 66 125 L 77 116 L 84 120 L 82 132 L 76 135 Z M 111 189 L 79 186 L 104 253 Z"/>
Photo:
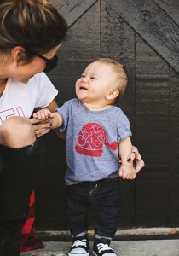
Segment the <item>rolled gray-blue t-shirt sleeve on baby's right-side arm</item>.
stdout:
<path fill-rule="evenodd" d="M 130 131 L 130 121 L 122 111 L 118 113 L 117 122 L 119 142 L 120 140 L 123 140 L 124 138 L 131 136 L 132 133 Z"/>

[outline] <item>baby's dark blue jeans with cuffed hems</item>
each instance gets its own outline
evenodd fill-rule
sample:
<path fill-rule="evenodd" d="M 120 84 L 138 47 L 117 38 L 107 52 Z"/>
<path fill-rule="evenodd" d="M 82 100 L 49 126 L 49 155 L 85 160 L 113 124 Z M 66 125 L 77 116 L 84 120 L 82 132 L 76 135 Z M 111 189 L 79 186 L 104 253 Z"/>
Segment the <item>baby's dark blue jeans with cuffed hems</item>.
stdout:
<path fill-rule="evenodd" d="M 122 209 L 119 178 L 66 185 L 66 206 L 72 235 L 88 230 L 88 207 L 92 202 L 98 212 L 95 235 L 113 238 Z"/>

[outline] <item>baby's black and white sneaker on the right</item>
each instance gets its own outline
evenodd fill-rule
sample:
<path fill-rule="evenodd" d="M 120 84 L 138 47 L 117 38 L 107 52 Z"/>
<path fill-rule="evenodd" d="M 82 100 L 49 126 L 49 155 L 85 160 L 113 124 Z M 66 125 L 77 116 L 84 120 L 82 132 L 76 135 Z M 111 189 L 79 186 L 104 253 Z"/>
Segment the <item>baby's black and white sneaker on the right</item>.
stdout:
<path fill-rule="evenodd" d="M 117 256 L 113 249 L 109 247 L 110 240 L 106 238 L 95 238 L 92 253 L 95 256 Z"/>

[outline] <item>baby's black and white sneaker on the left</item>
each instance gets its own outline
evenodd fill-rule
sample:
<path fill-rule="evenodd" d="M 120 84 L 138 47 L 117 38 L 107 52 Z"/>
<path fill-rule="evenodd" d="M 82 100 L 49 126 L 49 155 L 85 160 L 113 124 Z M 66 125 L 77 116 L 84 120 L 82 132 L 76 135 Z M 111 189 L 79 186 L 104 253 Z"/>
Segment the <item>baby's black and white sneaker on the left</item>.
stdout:
<path fill-rule="evenodd" d="M 69 256 L 89 256 L 88 236 L 74 237 Z"/>

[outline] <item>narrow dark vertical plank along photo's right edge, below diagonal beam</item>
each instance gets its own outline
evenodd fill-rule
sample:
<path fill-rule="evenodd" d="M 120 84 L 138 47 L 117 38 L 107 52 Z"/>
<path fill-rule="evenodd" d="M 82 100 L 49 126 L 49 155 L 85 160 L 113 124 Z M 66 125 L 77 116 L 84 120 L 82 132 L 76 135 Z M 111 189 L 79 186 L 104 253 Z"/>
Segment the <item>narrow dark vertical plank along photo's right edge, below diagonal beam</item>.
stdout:
<path fill-rule="evenodd" d="M 170 196 L 169 225 L 179 223 L 179 75 L 170 70 Z"/>

